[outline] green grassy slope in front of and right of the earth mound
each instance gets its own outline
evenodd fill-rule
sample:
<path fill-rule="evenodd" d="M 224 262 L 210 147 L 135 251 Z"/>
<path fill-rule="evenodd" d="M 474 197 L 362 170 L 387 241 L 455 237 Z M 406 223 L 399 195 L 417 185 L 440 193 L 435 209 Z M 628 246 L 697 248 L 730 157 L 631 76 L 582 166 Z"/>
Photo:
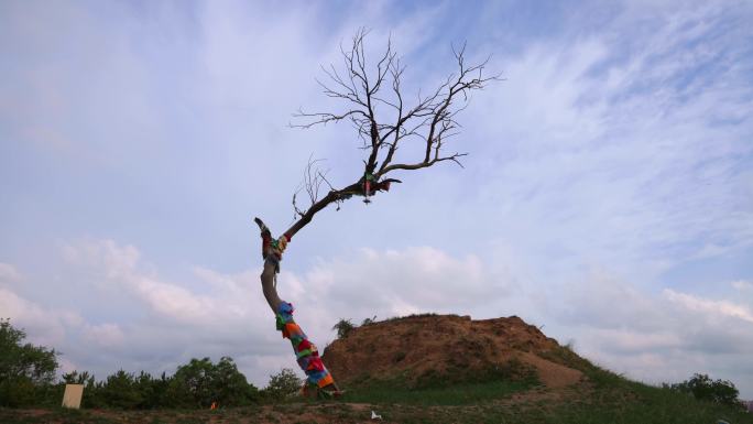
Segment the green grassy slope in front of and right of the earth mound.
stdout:
<path fill-rule="evenodd" d="M 530 380 L 418 390 L 372 383 L 349 392 L 345 401 L 371 403 L 385 420 L 400 423 L 716 424 L 724 420 L 753 424 L 753 415 L 742 410 L 699 402 L 592 365 L 583 368 L 590 383 L 557 401 L 542 396 L 516 403 L 500 401 L 535 387 Z"/>

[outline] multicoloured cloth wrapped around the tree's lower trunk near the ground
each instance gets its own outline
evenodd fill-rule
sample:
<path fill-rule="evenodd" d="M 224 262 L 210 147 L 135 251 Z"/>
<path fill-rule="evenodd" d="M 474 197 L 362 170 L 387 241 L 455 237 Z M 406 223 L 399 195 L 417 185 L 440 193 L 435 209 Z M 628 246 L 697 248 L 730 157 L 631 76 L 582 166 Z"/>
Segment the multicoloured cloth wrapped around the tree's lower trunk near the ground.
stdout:
<path fill-rule="evenodd" d="M 298 366 L 306 373 L 308 385 L 325 388 L 332 384 L 335 380 L 321 362 L 316 346 L 308 340 L 306 334 L 293 319 L 293 311 L 295 309 L 292 304 L 287 302 L 280 304 L 275 319 L 277 330 L 282 331 L 283 338 L 291 339 L 293 351 Z"/>

